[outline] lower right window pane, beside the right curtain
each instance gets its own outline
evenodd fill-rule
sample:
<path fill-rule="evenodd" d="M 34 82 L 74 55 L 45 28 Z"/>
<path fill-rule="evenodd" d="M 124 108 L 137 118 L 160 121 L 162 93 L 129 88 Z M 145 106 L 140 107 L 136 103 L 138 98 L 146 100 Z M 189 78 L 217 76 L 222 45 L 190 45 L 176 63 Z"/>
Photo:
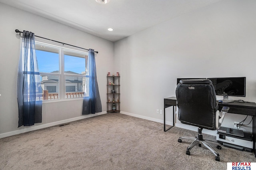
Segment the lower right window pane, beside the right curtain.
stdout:
<path fill-rule="evenodd" d="M 84 97 L 84 79 L 80 76 L 66 76 L 66 99 Z"/>

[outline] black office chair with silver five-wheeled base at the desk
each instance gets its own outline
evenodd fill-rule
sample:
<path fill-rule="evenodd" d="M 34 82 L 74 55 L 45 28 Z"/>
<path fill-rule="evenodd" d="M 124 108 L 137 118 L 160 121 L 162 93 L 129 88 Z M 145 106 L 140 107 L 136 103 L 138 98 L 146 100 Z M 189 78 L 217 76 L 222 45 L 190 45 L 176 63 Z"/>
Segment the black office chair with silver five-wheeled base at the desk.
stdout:
<path fill-rule="evenodd" d="M 208 143 L 220 144 L 218 142 L 204 140 L 202 129 L 216 130 L 220 127 L 224 115 L 228 112 L 228 107 L 222 109 L 222 117 L 218 111 L 218 103 L 216 102 L 216 94 L 212 81 L 209 79 L 186 79 L 180 80 L 176 87 L 177 112 L 178 119 L 181 123 L 198 127 L 198 135 L 196 137 L 180 137 L 182 139 L 194 140 L 186 150 L 186 154 L 190 155 L 190 150 L 198 145 L 203 144 L 215 155 L 215 160 L 220 161 L 220 155 Z M 207 143 L 208 142 L 208 143 Z M 221 149 L 221 146 L 217 146 Z"/>

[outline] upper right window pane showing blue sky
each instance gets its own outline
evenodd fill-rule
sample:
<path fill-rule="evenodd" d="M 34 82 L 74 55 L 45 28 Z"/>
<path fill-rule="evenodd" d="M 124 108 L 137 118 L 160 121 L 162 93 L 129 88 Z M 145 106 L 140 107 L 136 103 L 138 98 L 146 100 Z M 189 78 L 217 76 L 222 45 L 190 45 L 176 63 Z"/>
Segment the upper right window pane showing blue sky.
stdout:
<path fill-rule="evenodd" d="M 85 74 L 85 55 L 64 51 L 64 71 L 68 74 Z"/>

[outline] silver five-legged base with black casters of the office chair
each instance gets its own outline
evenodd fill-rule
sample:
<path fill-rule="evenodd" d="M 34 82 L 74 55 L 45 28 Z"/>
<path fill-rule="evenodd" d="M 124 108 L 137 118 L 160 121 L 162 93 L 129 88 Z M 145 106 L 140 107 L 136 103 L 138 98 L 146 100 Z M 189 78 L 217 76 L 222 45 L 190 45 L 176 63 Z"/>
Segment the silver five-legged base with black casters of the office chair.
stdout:
<path fill-rule="evenodd" d="M 198 145 L 199 147 L 201 147 L 202 144 L 203 144 L 206 148 L 208 148 L 208 149 L 215 155 L 215 160 L 220 161 L 220 155 L 218 154 L 218 152 L 216 152 L 216 151 L 212 148 L 212 146 L 210 146 L 210 145 L 208 144 L 208 143 L 217 144 L 217 145 L 218 145 L 217 148 L 218 148 L 218 149 L 221 149 L 220 143 L 214 142 L 214 141 L 211 141 L 211 140 L 204 140 L 204 139 L 203 139 L 203 136 L 202 136 L 202 133 L 200 133 L 200 132 L 202 132 L 202 129 L 200 129 L 200 130 L 198 129 L 198 132 L 199 132 L 199 133 L 198 133 L 198 135 L 197 135 L 196 137 L 183 136 L 183 137 L 180 137 L 180 138 L 178 139 L 178 142 L 182 142 L 182 139 L 193 140 L 193 142 L 187 147 L 186 154 L 187 154 L 187 155 L 190 155 L 190 150 L 191 150 L 194 146 Z"/>

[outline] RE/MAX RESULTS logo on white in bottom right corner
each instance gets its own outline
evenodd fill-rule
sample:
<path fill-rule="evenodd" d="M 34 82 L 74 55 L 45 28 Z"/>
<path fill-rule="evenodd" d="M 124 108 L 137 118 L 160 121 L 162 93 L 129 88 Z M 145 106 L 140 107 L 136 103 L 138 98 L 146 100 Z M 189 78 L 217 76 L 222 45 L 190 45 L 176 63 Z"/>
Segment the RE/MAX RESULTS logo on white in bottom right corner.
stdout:
<path fill-rule="evenodd" d="M 228 162 L 227 170 L 255 170 L 256 162 Z"/>

